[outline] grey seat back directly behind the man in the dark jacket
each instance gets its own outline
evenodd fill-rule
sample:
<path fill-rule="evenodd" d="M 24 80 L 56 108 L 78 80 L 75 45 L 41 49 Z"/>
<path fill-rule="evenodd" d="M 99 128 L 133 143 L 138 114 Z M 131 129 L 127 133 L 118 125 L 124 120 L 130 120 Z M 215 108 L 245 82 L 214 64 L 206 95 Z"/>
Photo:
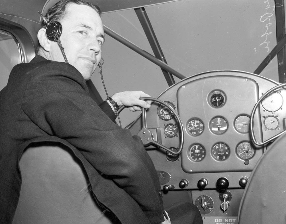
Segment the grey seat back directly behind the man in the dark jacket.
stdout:
<path fill-rule="evenodd" d="M 19 162 L 22 185 L 13 223 L 111 224 L 89 191 L 85 172 L 62 146 L 25 150 Z"/>

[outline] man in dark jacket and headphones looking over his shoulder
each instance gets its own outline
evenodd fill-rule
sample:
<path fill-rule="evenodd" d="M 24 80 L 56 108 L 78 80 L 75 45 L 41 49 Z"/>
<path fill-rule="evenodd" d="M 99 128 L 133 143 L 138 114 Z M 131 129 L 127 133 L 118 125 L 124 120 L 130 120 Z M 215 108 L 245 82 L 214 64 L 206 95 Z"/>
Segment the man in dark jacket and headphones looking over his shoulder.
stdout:
<path fill-rule="evenodd" d="M 92 191 L 115 222 L 168 223 L 158 175 L 141 139 L 114 123 L 120 106 L 149 108 L 139 99 L 148 95 L 116 93 L 100 106 L 89 96 L 85 81 L 101 60 L 105 40 L 99 7 L 62 0 L 47 14 L 38 32 L 37 56 L 15 66 L 0 93 L 5 106 L 0 111 L 0 222 L 11 223 L 15 213 L 23 150 L 34 142 L 51 141 L 69 146 L 89 179 L 96 177 L 96 184 L 90 181 Z M 62 32 L 52 30 L 49 38 L 47 24 L 55 21 Z M 193 222 L 202 223 L 196 207 L 190 210 Z"/>

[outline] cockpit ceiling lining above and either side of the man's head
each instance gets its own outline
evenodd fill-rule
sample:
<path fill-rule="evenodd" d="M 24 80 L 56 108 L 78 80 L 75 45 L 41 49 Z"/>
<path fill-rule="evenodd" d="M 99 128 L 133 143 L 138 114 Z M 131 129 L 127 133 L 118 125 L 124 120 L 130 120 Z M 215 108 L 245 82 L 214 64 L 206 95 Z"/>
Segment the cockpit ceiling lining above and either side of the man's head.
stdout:
<path fill-rule="evenodd" d="M 1 0 L 0 2 L 0 15 L 12 15 L 17 17 L 23 17 L 32 21 L 39 21 L 40 17 L 37 11 L 43 9 L 43 14 L 46 13 L 52 5 L 59 0 Z M 171 0 L 179 1 L 179 0 Z M 131 9 L 144 7 L 148 5 L 156 5 L 170 0 L 89 0 L 90 3 L 94 3 L 100 6 L 103 13 L 110 11 L 118 11 L 123 9 Z"/>

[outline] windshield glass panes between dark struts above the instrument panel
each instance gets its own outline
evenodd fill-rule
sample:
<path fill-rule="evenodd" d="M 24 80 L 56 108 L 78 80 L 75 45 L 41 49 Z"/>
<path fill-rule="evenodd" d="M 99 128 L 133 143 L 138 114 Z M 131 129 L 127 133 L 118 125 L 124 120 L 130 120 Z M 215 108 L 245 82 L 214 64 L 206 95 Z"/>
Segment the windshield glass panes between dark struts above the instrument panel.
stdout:
<path fill-rule="evenodd" d="M 254 72 L 276 45 L 274 5 L 274 0 L 181 0 L 148 6 L 145 11 L 167 64 L 188 77 L 212 70 Z M 134 9 L 104 13 L 102 20 L 108 28 L 154 55 Z M 168 88 L 158 66 L 106 37 L 103 73 L 107 89 L 113 90 L 110 95 L 142 90 L 156 97 Z M 97 72 L 92 80 L 105 99 Z M 260 75 L 278 81 L 277 56 Z"/>

